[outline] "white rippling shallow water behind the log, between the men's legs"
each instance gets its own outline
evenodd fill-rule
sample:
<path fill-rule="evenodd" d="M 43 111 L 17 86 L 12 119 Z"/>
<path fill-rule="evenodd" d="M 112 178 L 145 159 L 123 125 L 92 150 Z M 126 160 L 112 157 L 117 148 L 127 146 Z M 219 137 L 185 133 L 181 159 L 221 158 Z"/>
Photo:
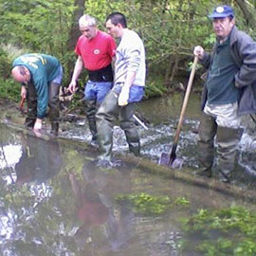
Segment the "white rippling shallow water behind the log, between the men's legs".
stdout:
<path fill-rule="evenodd" d="M 173 147 L 173 139 L 175 135 L 175 127 L 178 119 L 173 119 L 169 123 L 158 125 L 148 124 L 148 130 L 141 126 L 137 126 L 140 136 L 141 155 L 158 162 L 162 153 L 170 154 Z M 77 138 L 86 142 L 90 142 L 91 135 L 86 123 L 77 125 L 76 128 L 69 130 L 63 134 L 64 137 Z M 198 120 L 184 120 L 182 131 L 179 135 L 177 143 L 176 155 L 183 159 L 183 166 L 196 169 L 198 168 L 197 161 L 197 128 Z M 128 144 L 124 132 L 119 126 L 114 126 L 113 137 L 113 152 L 127 153 L 129 152 Z M 239 143 L 237 169 L 243 170 L 249 174 L 256 176 L 256 137 L 253 132 L 245 129 L 243 137 Z M 241 172 L 241 171 L 240 171 Z"/>

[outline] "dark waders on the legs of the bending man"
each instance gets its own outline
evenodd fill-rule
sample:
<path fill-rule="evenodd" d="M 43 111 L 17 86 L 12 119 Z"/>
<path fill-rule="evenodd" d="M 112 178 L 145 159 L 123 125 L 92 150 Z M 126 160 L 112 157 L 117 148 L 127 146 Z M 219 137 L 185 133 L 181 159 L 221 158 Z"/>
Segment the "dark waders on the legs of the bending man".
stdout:
<path fill-rule="evenodd" d="M 51 133 L 58 134 L 59 131 L 59 119 L 60 119 L 60 101 L 59 101 L 60 84 L 50 82 L 48 85 L 48 117 L 51 122 Z M 27 86 L 27 118 L 25 125 L 27 127 L 33 127 L 35 120 L 37 119 L 37 93 L 35 86 L 32 83 L 28 83 Z"/>

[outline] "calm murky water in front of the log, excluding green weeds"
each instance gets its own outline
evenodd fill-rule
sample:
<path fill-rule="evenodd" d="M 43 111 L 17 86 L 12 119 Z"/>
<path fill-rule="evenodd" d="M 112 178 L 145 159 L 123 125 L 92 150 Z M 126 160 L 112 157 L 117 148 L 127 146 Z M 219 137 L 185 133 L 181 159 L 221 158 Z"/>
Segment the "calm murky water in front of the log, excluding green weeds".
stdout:
<path fill-rule="evenodd" d="M 95 150 L 78 142 L 32 137 L 4 124 L 0 130 L 1 255 L 202 255 L 181 252 L 181 217 L 231 204 L 255 210 L 253 204 L 146 174 L 128 162 L 100 169 Z M 141 192 L 169 196 L 170 209 L 148 215 L 117 200 Z M 172 207 L 178 198 L 190 204 Z M 194 237 L 186 239 L 194 243 Z"/>

